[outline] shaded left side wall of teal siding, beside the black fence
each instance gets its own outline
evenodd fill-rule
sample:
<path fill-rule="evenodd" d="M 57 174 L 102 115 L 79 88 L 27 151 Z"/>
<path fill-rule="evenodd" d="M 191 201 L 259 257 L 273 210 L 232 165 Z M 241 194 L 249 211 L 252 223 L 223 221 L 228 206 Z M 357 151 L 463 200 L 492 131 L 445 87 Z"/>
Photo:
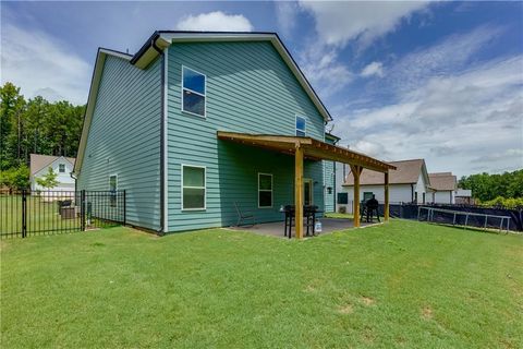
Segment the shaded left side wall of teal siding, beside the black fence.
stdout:
<path fill-rule="evenodd" d="M 87 137 L 78 190 L 126 190 L 131 225 L 160 228 L 160 60 L 146 70 L 108 56 Z"/>

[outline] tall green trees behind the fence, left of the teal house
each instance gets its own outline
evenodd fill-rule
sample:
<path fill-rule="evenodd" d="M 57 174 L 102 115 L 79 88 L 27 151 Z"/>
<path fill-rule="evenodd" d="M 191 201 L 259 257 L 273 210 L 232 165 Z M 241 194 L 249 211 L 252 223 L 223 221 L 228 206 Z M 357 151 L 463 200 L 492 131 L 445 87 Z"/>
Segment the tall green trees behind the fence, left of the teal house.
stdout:
<path fill-rule="evenodd" d="M 31 154 L 76 157 L 85 106 L 0 87 L 0 186 L 27 188 Z"/>

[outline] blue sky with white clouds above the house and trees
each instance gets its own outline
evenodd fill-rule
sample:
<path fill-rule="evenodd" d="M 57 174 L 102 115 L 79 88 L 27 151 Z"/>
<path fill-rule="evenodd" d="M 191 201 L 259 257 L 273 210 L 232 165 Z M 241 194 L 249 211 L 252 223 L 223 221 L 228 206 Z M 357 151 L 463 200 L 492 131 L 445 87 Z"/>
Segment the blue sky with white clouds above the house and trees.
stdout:
<path fill-rule="evenodd" d="M 521 1 L 1 2 L 1 82 L 85 104 L 97 48 L 134 53 L 155 29 L 278 32 L 353 149 L 523 168 Z"/>

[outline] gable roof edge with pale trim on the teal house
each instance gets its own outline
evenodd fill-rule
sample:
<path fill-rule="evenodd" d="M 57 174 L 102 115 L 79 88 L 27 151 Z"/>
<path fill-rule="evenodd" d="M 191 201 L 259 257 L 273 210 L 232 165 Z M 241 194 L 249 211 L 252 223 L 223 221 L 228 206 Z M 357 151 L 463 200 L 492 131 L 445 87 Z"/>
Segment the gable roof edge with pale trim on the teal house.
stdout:
<path fill-rule="evenodd" d="M 96 56 L 95 69 L 90 81 L 87 106 L 85 108 L 84 125 L 82 129 L 82 137 L 78 145 L 78 154 L 76 163 L 74 164 L 73 172 L 78 173 L 80 167 L 84 160 L 84 151 L 87 143 L 87 135 L 89 133 L 90 121 L 98 96 L 98 87 L 100 84 L 101 73 L 104 71 L 104 63 L 107 56 L 118 57 L 127 60 L 131 64 L 146 69 L 149 64 L 159 57 L 166 48 L 173 43 L 205 43 L 205 41 L 269 41 L 278 51 L 282 60 L 289 67 L 291 72 L 296 77 L 300 85 L 304 88 L 325 122 L 332 120 L 329 111 L 319 99 L 311 83 L 307 81 L 303 72 L 297 67 L 291 53 L 280 40 L 277 33 L 268 32 L 184 32 L 184 31 L 156 31 L 146 40 L 142 48 L 134 55 L 129 55 L 107 48 L 98 48 Z"/>

